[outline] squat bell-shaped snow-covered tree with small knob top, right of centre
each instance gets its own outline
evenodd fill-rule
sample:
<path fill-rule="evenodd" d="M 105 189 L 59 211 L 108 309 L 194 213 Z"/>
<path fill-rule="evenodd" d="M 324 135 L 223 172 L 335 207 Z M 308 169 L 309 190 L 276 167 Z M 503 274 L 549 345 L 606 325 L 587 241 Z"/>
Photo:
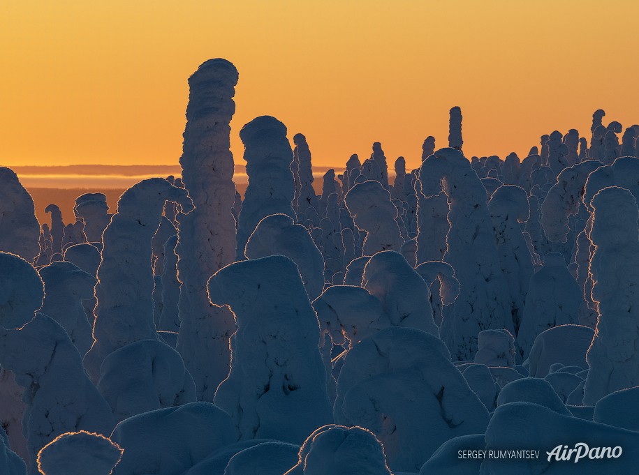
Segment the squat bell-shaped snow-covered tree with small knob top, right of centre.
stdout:
<path fill-rule="evenodd" d="M 524 318 L 517 334 L 517 345 L 523 359 L 528 357 L 537 335 L 553 326 L 578 323 L 583 296 L 566 267 L 564 256 L 549 252 L 543 266 L 530 280 Z"/>

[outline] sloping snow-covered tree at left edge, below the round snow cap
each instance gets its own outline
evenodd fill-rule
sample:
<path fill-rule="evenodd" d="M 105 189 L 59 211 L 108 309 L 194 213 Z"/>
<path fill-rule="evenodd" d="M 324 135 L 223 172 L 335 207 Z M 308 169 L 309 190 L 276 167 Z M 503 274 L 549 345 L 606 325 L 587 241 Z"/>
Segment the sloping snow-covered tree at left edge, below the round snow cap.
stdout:
<path fill-rule="evenodd" d="M 58 435 L 73 430 L 108 435 L 115 425 L 110 407 L 82 368 L 78 350 L 53 319 L 37 314 L 21 329 L 0 327 L 0 364 L 24 387 L 23 432 L 31 473 L 38 451 Z"/>

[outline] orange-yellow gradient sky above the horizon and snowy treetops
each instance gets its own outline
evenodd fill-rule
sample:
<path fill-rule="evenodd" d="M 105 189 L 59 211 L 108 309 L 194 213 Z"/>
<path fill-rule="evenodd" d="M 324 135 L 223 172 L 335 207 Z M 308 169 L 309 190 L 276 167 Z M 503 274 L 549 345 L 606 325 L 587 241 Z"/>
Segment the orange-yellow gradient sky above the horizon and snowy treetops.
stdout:
<path fill-rule="evenodd" d="M 0 163 L 176 164 L 187 78 L 237 66 L 232 149 L 256 116 L 307 136 L 316 165 L 417 165 L 464 114 L 467 156 L 639 122 L 639 1 L 0 2 Z"/>

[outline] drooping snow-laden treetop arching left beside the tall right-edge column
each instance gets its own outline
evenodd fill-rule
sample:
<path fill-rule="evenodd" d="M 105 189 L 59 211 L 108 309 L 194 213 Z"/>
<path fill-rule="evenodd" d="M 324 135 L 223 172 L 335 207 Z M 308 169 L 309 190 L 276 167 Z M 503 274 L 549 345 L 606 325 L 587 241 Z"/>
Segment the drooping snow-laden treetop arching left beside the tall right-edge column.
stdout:
<path fill-rule="evenodd" d="M 588 176 L 602 165 L 597 160 L 586 160 L 563 169 L 557 176 L 557 183 L 541 204 L 541 225 L 550 241 L 566 242 L 571 230 L 568 218 L 579 213 Z"/>

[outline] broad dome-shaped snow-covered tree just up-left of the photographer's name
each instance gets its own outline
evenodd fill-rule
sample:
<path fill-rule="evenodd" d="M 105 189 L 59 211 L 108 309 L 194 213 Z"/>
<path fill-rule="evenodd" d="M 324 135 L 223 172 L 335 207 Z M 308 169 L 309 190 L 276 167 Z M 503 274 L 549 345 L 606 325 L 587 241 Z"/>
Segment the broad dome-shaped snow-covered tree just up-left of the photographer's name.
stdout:
<path fill-rule="evenodd" d="M 488 411 L 439 338 L 392 326 L 346 355 L 335 423 L 360 425 L 382 442 L 388 465 L 416 472 L 443 442 L 483 432 Z"/>

